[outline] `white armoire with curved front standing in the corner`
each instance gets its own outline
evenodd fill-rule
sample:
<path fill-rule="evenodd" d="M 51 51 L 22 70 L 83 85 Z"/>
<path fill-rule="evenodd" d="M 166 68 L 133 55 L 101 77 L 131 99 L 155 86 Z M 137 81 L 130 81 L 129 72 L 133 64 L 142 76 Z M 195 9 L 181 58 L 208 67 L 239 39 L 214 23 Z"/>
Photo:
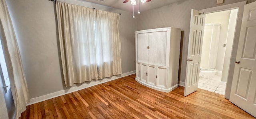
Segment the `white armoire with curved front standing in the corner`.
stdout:
<path fill-rule="evenodd" d="M 181 29 L 136 31 L 136 78 L 140 84 L 170 92 L 178 87 Z"/>

